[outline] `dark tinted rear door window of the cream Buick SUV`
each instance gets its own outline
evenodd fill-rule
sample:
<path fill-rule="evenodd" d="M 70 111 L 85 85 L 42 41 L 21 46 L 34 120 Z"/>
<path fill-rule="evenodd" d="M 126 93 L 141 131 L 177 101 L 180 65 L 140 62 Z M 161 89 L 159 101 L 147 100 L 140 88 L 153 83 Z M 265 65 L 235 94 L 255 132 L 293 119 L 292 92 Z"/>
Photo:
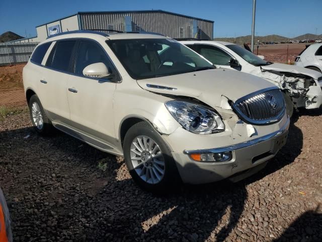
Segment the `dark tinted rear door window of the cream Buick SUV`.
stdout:
<path fill-rule="evenodd" d="M 51 56 L 52 53 L 50 53 L 48 58 L 48 61 L 50 62 L 50 58 L 52 57 L 52 63 L 50 65 L 50 63 L 47 62 L 47 65 L 59 71 L 67 72 L 69 70 L 75 43 L 76 41 L 61 41 L 56 43 L 55 48 L 52 50 L 52 52 L 54 51 L 53 57 Z"/>

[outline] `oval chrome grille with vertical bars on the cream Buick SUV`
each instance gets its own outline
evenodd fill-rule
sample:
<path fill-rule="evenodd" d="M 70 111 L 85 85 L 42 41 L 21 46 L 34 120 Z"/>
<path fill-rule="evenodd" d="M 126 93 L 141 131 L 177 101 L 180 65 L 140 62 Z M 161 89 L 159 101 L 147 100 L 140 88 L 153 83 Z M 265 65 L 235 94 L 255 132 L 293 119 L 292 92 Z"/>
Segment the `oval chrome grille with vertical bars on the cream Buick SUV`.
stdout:
<path fill-rule="evenodd" d="M 233 107 L 248 123 L 270 124 L 283 116 L 285 101 L 280 89 L 270 88 L 238 99 Z"/>

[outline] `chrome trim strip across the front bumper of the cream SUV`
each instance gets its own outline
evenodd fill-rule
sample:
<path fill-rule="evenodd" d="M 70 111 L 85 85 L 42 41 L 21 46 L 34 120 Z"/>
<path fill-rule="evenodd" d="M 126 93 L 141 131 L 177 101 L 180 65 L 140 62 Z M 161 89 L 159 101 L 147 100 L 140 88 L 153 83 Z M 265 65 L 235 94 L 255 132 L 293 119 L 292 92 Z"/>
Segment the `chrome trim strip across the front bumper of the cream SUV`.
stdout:
<path fill-rule="evenodd" d="M 280 136 L 280 135 L 284 134 L 285 132 L 287 132 L 289 125 L 290 125 L 290 119 L 287 116 L 286 124 L 281 129 L 279 129 L 278 131 L 275 131 L 271 134 L 256 138 L 254 140 L 249 140 L 249 141 L 246 141 L 243 143 L 238 143 L 235 145 L 229 145 L 229 146 L 213 148 L 213 149 L 205 149 L 205 150 L 184 150 L 183 153 L 186 155 L 190 155 L 190 154 L 221 153 L 221 152 L 227 152 L 227 151 L 234 151 L 237 149 L 249 147 L 251 145 L 256 145 L 258 143 L 261 143 L 261 142 L 273 139 L 277 136 Z"/>

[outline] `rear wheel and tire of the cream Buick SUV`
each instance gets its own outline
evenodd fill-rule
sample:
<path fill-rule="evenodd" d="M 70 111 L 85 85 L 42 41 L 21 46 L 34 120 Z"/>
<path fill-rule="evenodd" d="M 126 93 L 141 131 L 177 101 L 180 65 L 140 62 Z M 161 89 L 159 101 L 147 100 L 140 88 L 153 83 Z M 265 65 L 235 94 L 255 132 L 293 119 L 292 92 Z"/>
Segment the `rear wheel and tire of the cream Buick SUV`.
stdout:
<path fill-rule="evenodd" d="M 29 113 L 31 122 L 35 130 L 41 135 L 49 135 L 53 130 L 50 119 L 46 115 L 44 108 L 37 95 L 31 96 L 29 100 Z"/>

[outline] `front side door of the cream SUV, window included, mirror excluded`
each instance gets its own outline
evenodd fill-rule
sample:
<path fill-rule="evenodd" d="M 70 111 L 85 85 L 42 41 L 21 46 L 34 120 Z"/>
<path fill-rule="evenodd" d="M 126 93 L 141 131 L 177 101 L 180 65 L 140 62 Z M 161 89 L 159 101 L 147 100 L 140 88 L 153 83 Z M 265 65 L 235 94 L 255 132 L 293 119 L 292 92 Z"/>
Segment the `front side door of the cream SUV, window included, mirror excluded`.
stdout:
<path fill-rule="evenodd" d="M 108 78 L 90 78 L 83 70 L 94 63 L 104 63 L 112 73 Z M 115 142 L 113 94 L 120 77 L 102 46 L 89 39 L 80 40 L 74 75 L 66 87 L 72 126 L 105 142 Z"/>

